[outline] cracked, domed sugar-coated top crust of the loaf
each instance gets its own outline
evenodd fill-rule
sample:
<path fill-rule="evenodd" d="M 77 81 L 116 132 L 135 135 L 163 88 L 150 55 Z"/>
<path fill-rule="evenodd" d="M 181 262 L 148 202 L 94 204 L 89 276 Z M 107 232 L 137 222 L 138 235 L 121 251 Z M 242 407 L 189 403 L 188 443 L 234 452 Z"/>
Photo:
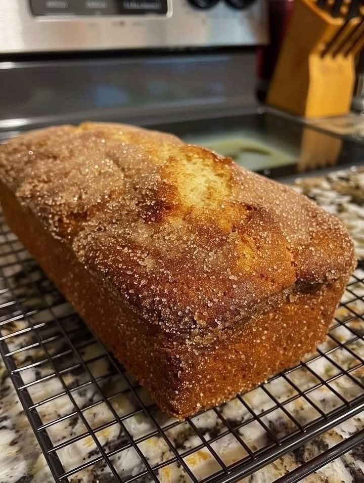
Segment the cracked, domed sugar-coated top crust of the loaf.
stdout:
<path fill-rule="evenodd" d="M 346 229 L 308 198 L 157 131 L 92 122 L 30 131 L 0 146 L 0 176 L 100 283 L 165 332 L 243 320 L 296 283 L 330 282 L 355 264 Z"/>

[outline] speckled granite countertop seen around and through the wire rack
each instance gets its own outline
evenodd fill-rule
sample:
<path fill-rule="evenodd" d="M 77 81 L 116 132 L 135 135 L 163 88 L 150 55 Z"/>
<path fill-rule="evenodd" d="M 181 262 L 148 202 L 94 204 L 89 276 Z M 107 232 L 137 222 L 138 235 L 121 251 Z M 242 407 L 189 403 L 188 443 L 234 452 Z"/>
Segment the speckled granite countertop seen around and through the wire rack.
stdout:
<path fill-rule="evenodd" d="M 316 200 L 330 212 L 337 214 L 342 219 L 354 239 L 358 258 L 364 259 L 364 168 L 337 171 L 322 178 L 297 180 L 296 189 Z M 18 242 L 14 240 L 13 247 L 16 243 Z M 20 251 L 19 253 L 23 252 Z M 24 254 L 24 257 L 25 256 L 26 254 Z M 4 264 L 6 259 L 6 253 L 0 251 L 0 265 Z M 36 270 L 34 271 L 34 274 L 36 274 Z M 364 277 L 364 272 L 360 269 L 357 269 L 356 274 L 358 278 Z M 14 270 L 12 276 L 14 276 L 14 280 L 17 279 L 19 281 L 19 278 L 22 276 L 21 271 L 16 272 L 16 270 Z M 34 275 L 34 277 L 35 276 L 36 275 Z M 351 282 L 354 283 L 355 279 L 352 279 Z M 47 281 L 45 283 L 47 283 Z M 361 298 L 364 297 L 364 284 L 354 283 L 352 288 L 355 289 L 355 292 L 358 293 Z M 53 316 L 52 314 L 50 315 L 49 311 L 43 306 L 38 305 L 40 302 L 37 300 L 36 295 L 26 291 L 22 292 L 20 290 L 17 293 L 17 296 L 23 300 L 22 303 L 27 310 L 32 309 L 32 322 L 39 324 L 44 323 L 44 330 L 48 330 L 47 321 Z M 11 299 L 11 297 L 7 297 L 10 297 L 9 290 L 1 285 L 0 278 L 0 308 L 1 303 L 7 304 Z M 71 318 L 72 309 L 61 297 L 58 297 L 59 295 L 57 295 L 56 292 L 53 292 L 50 288 L 48 304 L 56 307 L 55 310 L 58 311 L 58 315 L 62 315 L 62 317 L 67 319 L 69 314 Z M 349 292 L 344 294 L 344 299 L 350 303 Z M 352 308 L 354 310 L 360 310 L 360 313 L 363 313 L 360 304 L 364 305 L 359 299 L 353 302 Z M 4 309 L 4 311 L 7 311 L 9 314 L 9 312 L 12 312 L 12 309 L 8 307 Z M 332 353 L 334 355 L 333 360 L 335 360 L 334 358 L 336 357 L 336 362 L 341 366 L 344 365 L 347 368 L 354 367 L 357 360 L 355 362 L 353 353 L 360 355 L 361 357 L 364 356 L 364 343 L 361 345 L 361 339 L 352 342 L 350 340 L 353 334 L 364 334 L 364 322 L 359 318 L 353 318 L 352 314 L 343 307 L 338 309 L 336 316 L 341 321 L 346 321 L 346 326 L 348 328 L 334 324 L 331 328 L 331 333 L 342 343 L 347 343 L 352 352 L 344 354 L 341 349 L 336 350 Z M 1 321 L 5 320 L 6 317 L 9 317 L 9 315 L 6 315 L 6 312 L 0 311 L 0 331 L 2 335 L 11 334 L 13 331 L 26 328 L 24 321 L 21 319 L 1 325 Z M 74 327 L 73 330 L 75 330 Z M 87 333 L 85 333 L 84 330 L 85 329 L 81 330 L 81 337 L 87 338 Z M 50 335 L 49 333 L 46 334 Z M 31 340 L 29 337 L 30 333 L 26 332 L 26 330 L 21 336 L 10 337 L 7 339 L 9 349 L 16 350 L 24 344 L 28 344 Z M 328 338 L 323 344 L 321 344 L 320 348 L 325 350 L 328 347 L 330 348 L 332 344 L 333 340 Z M 57 346 L 57 343 L 52 343 L 49 350 L 52 354 L 52 350 L 59 351 L 60 346 Z M 100 344 L 92 342 L 79 350 L 82 360 L 85 361 L 89 367 L 92 367 L 95 377 L 102 376 L 102 374 L 107 373 L 109 370 L 108 359 L 101 358 L 97 359 L 96 363 L 93 362 L 95 357 L 98 354 L 101 354 L 100 351 L 102 350 Z M 28 351 L 18 352 L 14 356 L 14 360 L 17 366 L 22 366 L 25 364 L 36 363 L 37 361 L 40 361 L 42 357 L 44 357 L 44 355 L 41 354 L 40 351 L 37 352 L 35 349 L 31 354 L 29 354 Z M 305 361 L 309 363 L 312 357 L 314 357 L 314 355 L 308 355 L 305 358 Z M 319 361 L 320 362 L 316 364 L 317 367 L 315 367 L 315 371 L 323 374 L 322 377 L 329 378 L 330 375 L 333 374 L 333 371 L 335 371 L 335 367 L 326 360 Z M 68 364 L 69 363 L 70 361 L 68 361 Z M 312 362 L 312 364 L 315 364 L 315 362 Z M 22 376 L 24 382 L 30 382 L 35 378 L 47 377 L 51 372 L 50 367 L 47 367 L 47 364 L 44 364 L 23 371 Z M 310 380 L 310 377 L 312 378 L 312 376 L 309 376 L 304 371 L 300 372 L 299 370 L 292 374 L 292 377 L 295 378 L 294 382 L 300 387 L 313 383 L 313 381 Z M 354 375 L 359 381 L 364 382 L 364 370 L 362 366 L 355 369 Z M 67 385 L 69 384 L 69 387 L 73 387 L 73 384 L 84 382 L 83 377 L 84 374 L 80 371 L 76 371 L 72 374 L 66 373 L 64 375 L 64 381 Z M 46 382 L 41 385 L 35 384 L 29 388 L 33 401 L 39 401 L 46 396 L 52 396 L 60 391 L 57 378 L 50 377 L 49 379 L 45 379 L 45 381 Z M 112 391 L 113 394 L 116 394 L 115 397 L 111 394 L 110 401 L 112 401 L 112 406 L 119 416 L 128 414 L 135 409 L 135 402 L 130 398 L 130 395 L 128 393 L 120 393 L 120 391 L 117 391 L 117 388 L 119 390 L 123 389 L 123 384 L 124 382 L 122 380 L 113 380 L 112 384 L 105 384 L 105 387 L 103 387 L 104 392 Z M 283 378 L 278 378 L 269 382 L 267 387 L 269 387 L 270 393 L 274 394 L 279 401 L 288 399 L 288 397 L 294 392 L 293 386 L 285 382 Z M 335 380 L 335 388 L 339 393 L 345 394 L 345 397 L 349 399 L 351 397 L 354 398 L 361 393 L 359 386 L 348 383 L 348 381 L 345 380 L 345 377 L 339 377 Z M 92 384 L 85 385 L 82 391 L 75 391 L 73 394 L 79 407 L 82 407 L 82 404 L 85 404 L 85 401 L 87 401 L 88 404 L 90 401 L 95 402 L 93 408 L 84 412 L 87 422 L 92 427 L 100 426 L 101 424 L 112 420 L 110 410 L 105 404 L 97 404 L 98 391 L 95 390 L 95 387 L 93 387 Z M 149 397 L 146 391 L 141 388 L 140 394 L 143 401 L 147 404 Z M 324 388 L 322 388 L 322 390 L 313 391 L 311 394 L 314 394 L 312 398 L 315 398 L 315 404 L 322 408 L 323 411 L 329 411 L 337 404 L 337 401 L 333 398 L 333 394 L 329 390 L 325 391 Z M 254 411 L 258 414 L 269 409 L 272 404 L 272 400 L 269 399 L 267 394 L 260 387 L 245 394 L 243 399 L 250 407 L 254 408 Z M 42 405 L 38 408 L 37 412 L 42 422 L 47 423 L 72 412 L 72 407 L 69 406 L 69 403 L 70 402 L 67 398 L 59 397 L 52 400 L 50 404 Z M 313 406 L 307 405 L 302 398 L 295 399 L 287 405 L 287 408 L 290 413 L 302 423 L 314 420 L 317 417 L 317 412 Z M 222 413 L 225 420 L 229 421 L 232 425 L 246 421 L 249 418 L 249 413 L 246 407 L 242 404 L 241 400 L 237 398 L 222 405 L 219 408 L 219 411 Z M 163 415 L 158 410 L 155 413 L 155 417 L 162 425 L 173 423 L 173 419 Z M 292 428 L 291 421 L 277 410 L 267 412 L 264 418 L 266 425 L 276 434 L 289 434 L 294 429 Z M 200 432 L 203 433 L 206 440 L 213 438 L 224 430 L 221 420 L 214 411 L 208 411 L 196 416 L 193 419 L 193 422 L 195 426 L 199 428 Z M 148 432 L 153 430 L 152 421 L 146 417 L 144 412 L 135 414 L 126 419 L 125 424 L 129 433 L 135 438 L 148 434 Z M 361 428 L 364 428 L 364 412 L 315 438 L 315 440 L 310 443 L 286 454 L 274 463 L 267 465 L 263 469 L 245 478 L 243 481 L 264 481 L 266 483 L 274 481 L 279 476 L 284 475 L 287 471 L 341 442 L 343 438 L 348 437 Z M 65 419 L 60 424 L 50 426 L 48 434 L 52 443 L 55 445 L 65 441 L 71 436 L 81 434 L 83 431 L 84 425 L 79 417 L 75 415 L 71 418 Z M 256 424 L 255 421 L 241 427 L 239 433 L 241 438 L 252 451 L 261 448 L 267 443 L 267 434 L 259 424 Z M 192 430 L 191 425 L 188 422 L 176 423 L 174 426 L 172 425 L 167 431 L 167 434 L 169 440 L 180 453 L 197 447 L 201 443 L 198 435 Z M 100 430 L 98 432 L 98 437 L 99 441 L 102 441 L 102 444 L 107 451 L 117 449 L 125 443 L 125 435 L 120 431 L 120 426 L 118 424 L 111 424 Z M 231 433 L 226 434 L 226 436 L 222 437 L 220 440 L 212 443 L 212 447 L 224 463 L 228 465 L 244 458 L 246 455 L 244 448 Z M 158 461 L 166 461 L 171 456 L 168 446 L 157 436 L 152 436 L 143 441 L 140 444 L 140 449 L 152 465 L 156 464 Z M 98 450 L 95 448 L 95 444 L 90 436 L 84 437 L 76 441 L 72 446 L 65 447 L 58 452 L 66 470 L 75 467 L 90 458 L 94 458 L 97 454 Z M 213 473 L 216 471 L 216 468 L 218 468 L 217 461 L 211 457 L 211 454 L 209 454 L 206 449 L 200 449 L 187 456 L 186 462 L 192 471 L 200 478 Z M 113 459 L 113 464 L 121 475 L 137 474 L 143 468 L 143 463 L 132 448 L 117 453 Z M 160 468 L 156 474 L 162 483 L 184 483 L 185 481 L 190 481 L 183 469 L 177 464 L 169 464 L 164 468 Z M 72 483 L 78 483 L 80 481 L 99 481 L 100 483 L 107 483 L 113 481 L 114 478 L 110 473 L 110 470 L 106 467 L 106 464 L 100 461 L 93 466 L 84 469 L 81 473 L 71 476 L 69 480 Z M 140 483 L 147 483 L 150 480 L 149 477 L 138 479 Z M 51 472 L 45 463 L 45 459 L 40 451 L 35 436 L 29 426 L 27 417 L 22 410 L 15 389 L 1 360 L 0 483 L 44 483 L 48 481 L 53 481 Z M 364 444 L 326 465 L 320 471 L 308 476 L 305 481 L 327 481 L 330 483 L 364 481 Z"/>

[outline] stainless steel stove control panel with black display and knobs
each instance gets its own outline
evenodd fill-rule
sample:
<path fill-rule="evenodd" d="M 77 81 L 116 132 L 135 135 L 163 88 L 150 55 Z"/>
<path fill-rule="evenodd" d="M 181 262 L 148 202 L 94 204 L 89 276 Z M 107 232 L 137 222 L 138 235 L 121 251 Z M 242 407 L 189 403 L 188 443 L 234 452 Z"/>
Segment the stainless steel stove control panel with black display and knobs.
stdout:
<path fill-rule="evenodd" d="M 1 0 L 0 54 L 251 46 L 265 0 Z"/>

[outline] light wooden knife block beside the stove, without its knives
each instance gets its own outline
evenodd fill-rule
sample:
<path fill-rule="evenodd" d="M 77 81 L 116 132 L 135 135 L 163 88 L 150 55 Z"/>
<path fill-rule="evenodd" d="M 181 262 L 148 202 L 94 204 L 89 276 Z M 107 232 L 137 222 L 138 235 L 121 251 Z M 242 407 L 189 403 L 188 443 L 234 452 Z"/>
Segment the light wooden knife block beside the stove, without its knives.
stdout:
<path fill-rule="evenodd" d="M 310 0 L 295 0 L 267 103 L 306 118 L 347 114 L 355 81 L 354 56 L 323 55 L 344 21 Z"/>

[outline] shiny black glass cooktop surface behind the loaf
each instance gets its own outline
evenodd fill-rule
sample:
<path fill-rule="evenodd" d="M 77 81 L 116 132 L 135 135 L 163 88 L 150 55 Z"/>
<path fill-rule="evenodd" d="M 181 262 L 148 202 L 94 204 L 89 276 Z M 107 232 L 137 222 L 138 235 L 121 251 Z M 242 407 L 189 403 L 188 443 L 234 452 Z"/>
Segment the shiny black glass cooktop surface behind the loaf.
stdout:
<path fill-rule="evenodd" d="M 328 133 L 277 113 L 255 111 L 221 117 L 215 114 L 202 119 L 175 119 L 160 116 L 158 122 L 153 123 L 150 118 L 124 119 L 119 114 L 111 115 L 107 120 L 175 134 L 188 143 L 231 156 L 238 164 L 274 179 L 289 180 L 297 175 L 364 164 L 364 143 L 360 139 Z M 62 122 L 72 123 L 67 119 Z M 27 129 L 32 127 L 27 125 Z M 22 130 L 2 131 L 1 138 L 16 136 Z"/>

